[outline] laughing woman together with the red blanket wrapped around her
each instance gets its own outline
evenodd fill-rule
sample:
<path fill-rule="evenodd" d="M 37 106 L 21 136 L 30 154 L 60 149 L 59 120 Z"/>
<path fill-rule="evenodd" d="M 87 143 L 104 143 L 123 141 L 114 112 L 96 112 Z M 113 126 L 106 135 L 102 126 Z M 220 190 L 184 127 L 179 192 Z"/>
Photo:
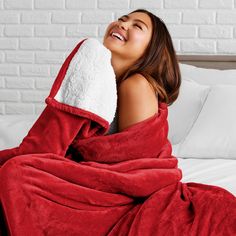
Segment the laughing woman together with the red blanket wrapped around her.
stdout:
<path fill-rule="evenodd" d="M 28 135 L 0 151 L 0 230 L 236 235 L 231 193 L 180 182 L 167 138 L 180 73 L 165 24 L 140 9 L 111 23 L 103 43 L 76 46 Z M 118 132 L 104 135 L 116 105 Z"/>

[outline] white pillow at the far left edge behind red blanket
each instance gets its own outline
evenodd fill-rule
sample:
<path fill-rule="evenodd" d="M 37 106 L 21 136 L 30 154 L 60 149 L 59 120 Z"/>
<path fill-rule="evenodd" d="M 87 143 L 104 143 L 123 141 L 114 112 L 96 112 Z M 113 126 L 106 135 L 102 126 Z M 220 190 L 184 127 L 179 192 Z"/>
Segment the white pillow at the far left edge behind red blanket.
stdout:
<path fill-rule="evenodd" d="M 36 119 L 36 115 L 1 115 L 0 150 L 18 146 Z"/>

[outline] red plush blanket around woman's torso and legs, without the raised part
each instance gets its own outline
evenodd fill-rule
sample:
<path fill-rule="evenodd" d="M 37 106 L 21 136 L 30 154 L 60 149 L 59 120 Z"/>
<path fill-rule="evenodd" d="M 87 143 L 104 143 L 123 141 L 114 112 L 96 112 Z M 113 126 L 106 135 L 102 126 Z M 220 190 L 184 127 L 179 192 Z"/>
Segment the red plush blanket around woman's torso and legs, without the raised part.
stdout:
<path fill-rule="evenodd" d="M 233 194 L 181 182 L 167 114 L 159 103 L 157 114 L 122 132 L 78 138 L 80 161 L 53 153 L 8 160 L 0 199 L 9 234 L 236 235 Z"/>

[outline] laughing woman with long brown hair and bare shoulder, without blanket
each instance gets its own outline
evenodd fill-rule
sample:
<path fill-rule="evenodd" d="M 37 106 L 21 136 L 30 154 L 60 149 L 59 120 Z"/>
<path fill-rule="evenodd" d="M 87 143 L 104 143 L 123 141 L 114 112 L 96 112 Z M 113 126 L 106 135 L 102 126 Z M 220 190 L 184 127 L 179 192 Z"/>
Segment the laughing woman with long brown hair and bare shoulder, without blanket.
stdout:
<path fill-rule="evenodd" d="M 118 127 L 112 126 L 110 133 L 152 116 L 158 101 L 170 105 L 176 100 L 181 76 L 171 36 L 160 18 L 137 9 L 108 26 L 103 44 L 112 52 L 118 83 Z"/>

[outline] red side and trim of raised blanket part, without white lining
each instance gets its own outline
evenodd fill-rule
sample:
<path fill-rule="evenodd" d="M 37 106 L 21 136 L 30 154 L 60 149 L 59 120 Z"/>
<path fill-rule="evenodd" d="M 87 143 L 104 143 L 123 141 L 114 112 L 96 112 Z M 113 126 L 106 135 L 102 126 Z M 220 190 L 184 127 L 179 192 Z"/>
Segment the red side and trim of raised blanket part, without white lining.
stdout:
<path fill-rule="evenodd" d="M 85 40 L 76 45 L 61 66 L 50 94 L 45 100 L 47 106 L 21 144 L 18 147 L 0 151 L 0 166 L 10 158 L 23 154 L 54 153 L 65 156 L 77 134 L 85 138 L 95 134 L 104 134 L 107 131 L 109 123 L 102 117 L 79 107 L 59 103 L 54 98 L 72 58 Z"/>

